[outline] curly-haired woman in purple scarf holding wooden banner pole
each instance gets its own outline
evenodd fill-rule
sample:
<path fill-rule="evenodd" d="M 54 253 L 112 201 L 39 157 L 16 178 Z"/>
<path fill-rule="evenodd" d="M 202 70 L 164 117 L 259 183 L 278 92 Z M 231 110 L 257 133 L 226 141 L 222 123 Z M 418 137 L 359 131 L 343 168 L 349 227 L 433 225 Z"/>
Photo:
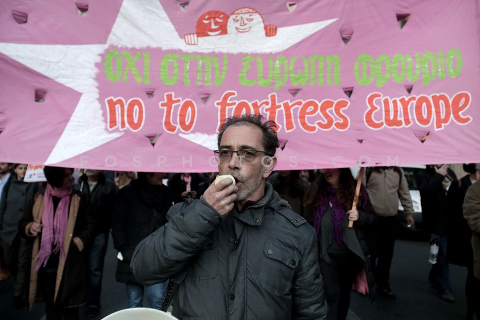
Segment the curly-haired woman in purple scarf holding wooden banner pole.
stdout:
<path fill-rule="evenodd" d="M 329 168 L 323 169 L 311 183 L 305 199 L 307 220 L 318 235 L 318 259 L 329 320 L 346 318 L 350 291 L 362 270 L 370 301 L 375 298 L 366 233 L 376 215 L 363 185 L 358 191 L 355 203 L 355 179 L 349 168 Z M 351 222 L 354 223 L 350 227 Z"/>

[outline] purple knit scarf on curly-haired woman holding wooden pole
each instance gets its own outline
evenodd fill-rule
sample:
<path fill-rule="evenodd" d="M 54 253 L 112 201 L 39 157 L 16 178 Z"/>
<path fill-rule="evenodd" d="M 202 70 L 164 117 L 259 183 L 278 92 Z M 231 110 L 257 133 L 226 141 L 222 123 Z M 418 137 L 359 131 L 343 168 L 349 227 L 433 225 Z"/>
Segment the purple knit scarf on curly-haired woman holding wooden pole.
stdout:
<path fill-rule="evenodd" d="M 313 227 L 315 228 L 316 234 L 318 234 L 320 231 L 321 218 L 323 217 L 323 214 L 325 214 L 327 206 L 331 202 L 331 229 L 333 231 L 333 238 L 338 244 L 340 244 L 341 237 L 343 235 L 342 222 L 346 218 L 346 211 L 342 204 L 338 201 L 336 193 L 336 188 L 332 187 L 331 185 L 327 186 L 326 194 L 323 195 L 321 204 L 313 211 Z M 362 208 L 364 208 L 367 197 L 366 190 L 363 188 L 363 186 L 360 188 L 359 197 L 362 199 Z"/>

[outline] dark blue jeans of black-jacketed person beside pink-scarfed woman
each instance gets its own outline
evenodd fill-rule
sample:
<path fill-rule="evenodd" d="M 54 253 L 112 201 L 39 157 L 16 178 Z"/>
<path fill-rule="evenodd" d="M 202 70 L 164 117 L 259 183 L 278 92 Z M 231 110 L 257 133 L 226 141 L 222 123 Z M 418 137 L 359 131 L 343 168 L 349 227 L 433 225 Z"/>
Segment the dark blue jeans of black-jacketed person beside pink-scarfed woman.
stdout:
<path fill-rule="evenodd" d="M 87 305 L 100 308 L 101 278 L 103 276 L 103 262 L 106 247 L 108 246 L 108 233 L 100 233 L 93 239 L 88 254 L 88 290 Z"/>

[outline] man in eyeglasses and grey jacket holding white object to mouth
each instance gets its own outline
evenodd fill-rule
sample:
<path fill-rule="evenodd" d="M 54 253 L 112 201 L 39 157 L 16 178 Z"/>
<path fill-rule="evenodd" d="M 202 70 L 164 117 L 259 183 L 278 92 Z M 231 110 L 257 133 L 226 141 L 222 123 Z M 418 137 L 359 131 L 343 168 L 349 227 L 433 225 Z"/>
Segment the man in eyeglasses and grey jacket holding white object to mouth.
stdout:
<path fill-rule="evenodd" d="M 222 179 L 174 205 L 135 248 L 135 277 L 170 278 L 179 319 L 326 317 L 315 231 L 265 181 L 277 161 L 273 126 L 261 115 L 226 119 L 214 153 L 236 183 Z"/>

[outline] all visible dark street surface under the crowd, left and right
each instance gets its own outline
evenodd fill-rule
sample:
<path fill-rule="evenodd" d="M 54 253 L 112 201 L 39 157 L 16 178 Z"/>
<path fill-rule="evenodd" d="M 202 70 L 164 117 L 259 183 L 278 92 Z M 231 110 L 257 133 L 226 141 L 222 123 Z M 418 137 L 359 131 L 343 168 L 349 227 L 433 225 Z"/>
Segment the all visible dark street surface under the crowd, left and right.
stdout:
<path fill-rule="evenodd" d="M 465 317 L 466 302 L 464 283 L 466 269 L 450 265 L 450 280 L 453 285 L 456 301 L 445 302 L 427 281 L 430 264 L 427 261 L 428 243 L 418 240 L 397 240 L 391 272 L 391 287 L 397 298 L 389 300 L 378 297 L 370 304 L 367 297 L 356 292 L 351 294 L 348 320 L 451 320 Z M 102 309 L 94 320 L 120 310 L 125 306 L 125 288 L 123 283 L 115 281 L 116 252 L 109 243 L 105 259 L 103 278 Z M 42 319 L 43 305 L 37 304 L 29 313 L 26 308 L 14 310 L 11 297 L 11 279 L 0 282 L 0 318 L 3 319 Z M 81 309 L 82 319 L 85 308 Z"/>

